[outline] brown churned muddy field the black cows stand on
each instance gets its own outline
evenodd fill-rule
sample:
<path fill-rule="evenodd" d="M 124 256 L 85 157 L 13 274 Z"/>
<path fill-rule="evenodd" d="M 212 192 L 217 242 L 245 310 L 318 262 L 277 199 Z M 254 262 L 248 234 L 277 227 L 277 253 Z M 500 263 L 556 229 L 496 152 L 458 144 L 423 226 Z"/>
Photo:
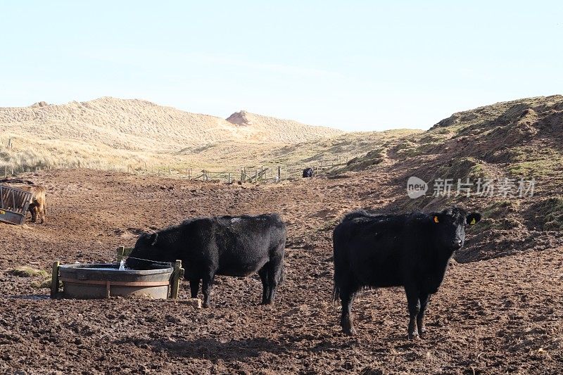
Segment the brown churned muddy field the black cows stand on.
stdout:
<path fill-rule="evenodd" d="M 560 247 L 528 244 L 500 258 L 452 262 L 431 300 L 423 340 L 407 340 L 400 288 L 362 293 L 353 309 L 358 335 L 343 336 L 329 302 L 331 229 L 354 208 L 389 210 L 388 197 L 404 194 L 394 177 L 362 172 L 229 186 L 91 170 L 30 176 L 48 189 L 49 221 L 0 224 L 0 372 L 561 373 Z M 275 307 L 258 305 L 258 277 L 218 277 L 214 307 L 195 310 L 186 303 L 184 282 L 177 303 L 50 300 L 48 289 L 32 286 L 41 277 L 9 273 L 23 265 L 49 270 L 55 259 L 113 261 L 115 248 L 132 246 L 141 230 L 192 216 L 261 212 L 279 212 L 289 224 L 286 281 Z M 467 234 L 469 251 L 487 238 L 474 230 Z M 551 243 L 545 232 L 534 235 Z"/>

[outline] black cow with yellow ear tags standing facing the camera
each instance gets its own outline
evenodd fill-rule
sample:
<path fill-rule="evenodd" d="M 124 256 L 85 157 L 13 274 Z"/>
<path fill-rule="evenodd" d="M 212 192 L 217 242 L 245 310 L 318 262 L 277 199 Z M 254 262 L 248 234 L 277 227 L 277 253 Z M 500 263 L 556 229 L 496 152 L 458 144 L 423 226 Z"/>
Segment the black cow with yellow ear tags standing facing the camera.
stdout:
<path fill-rule="evenodd" d="M 479 213 L 467 214 L 461 208 L 406 215 L 360 210 L 346 215 L 333 234 L 333 300 L 341 300 L 344 333 L 355 333 L 350 312 L 360 289 L 404 286 L 409 338 L 423 336 L 430 295 L 442 284 L 454 251 L 463 246 L 466 227 L 479 220 Z"/>

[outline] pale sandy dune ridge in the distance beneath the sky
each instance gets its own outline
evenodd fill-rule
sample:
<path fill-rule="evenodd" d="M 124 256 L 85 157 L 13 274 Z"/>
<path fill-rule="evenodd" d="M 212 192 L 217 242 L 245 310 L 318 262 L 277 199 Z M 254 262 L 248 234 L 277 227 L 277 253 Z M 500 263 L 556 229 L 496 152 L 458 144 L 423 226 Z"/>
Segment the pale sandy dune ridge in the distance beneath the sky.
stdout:
<path fill-rule="evenodd" d="M 78 140 L 146 151 L 167 151 L 217 141 L 296 142 L 342 133 L 327 127 L 241 113 L 251 118 L 251 122 L 239 125 L 149 101 L 104 97 L 61 105 L 36 103 L 24 108 L 0 108 L 0 124 L 5 133 L 15 136 Z"/>

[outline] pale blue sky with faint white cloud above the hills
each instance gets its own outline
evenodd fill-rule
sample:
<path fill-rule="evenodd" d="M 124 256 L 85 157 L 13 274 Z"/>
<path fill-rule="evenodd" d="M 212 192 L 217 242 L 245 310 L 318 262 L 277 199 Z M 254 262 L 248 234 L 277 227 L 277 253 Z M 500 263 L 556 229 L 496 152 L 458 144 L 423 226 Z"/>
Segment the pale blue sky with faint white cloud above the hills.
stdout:
<path fill-rule="evenodd" d="M 563 93 L 562 1 L 3 1 L 0 106 L 144 98 L 348 130 Z"/>

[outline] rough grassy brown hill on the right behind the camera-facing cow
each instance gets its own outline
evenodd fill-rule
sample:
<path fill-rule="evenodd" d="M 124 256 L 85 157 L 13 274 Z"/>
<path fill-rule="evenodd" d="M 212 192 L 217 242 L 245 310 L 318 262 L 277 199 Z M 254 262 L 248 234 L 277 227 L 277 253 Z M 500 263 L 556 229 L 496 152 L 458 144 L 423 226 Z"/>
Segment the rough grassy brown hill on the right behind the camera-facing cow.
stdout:
<path fill-rule="evenodd" d="M 446 205 L 481 210 L 485 220 L 476 228 L 481 245 L 465 248 L 458 260 L 560 246 L 563 96 L 525 98 L 455 113 L 426 132 L 389 139 L 334 173 L 348 171 L 393 175 L 388 184 L 395 190 L 388 195 L 387 211 L 430 211 Z M 407 179 L 412 176 L 429 184 L 424 197 L 407 196 Z M 456 196 L 458 179 L 467 182 L 468 178 L 473 183 L 470 196 L 466 191 Z M 449 197 L 433 196 L 436 179 L 452 180 Z M 479 179 L 493 182 L 492 194 L 477 191 Z M 519 196 L 521 179 L 533 179 L 533 196 Z M 510 187 L 506 194 L 503 186 Z"/>

